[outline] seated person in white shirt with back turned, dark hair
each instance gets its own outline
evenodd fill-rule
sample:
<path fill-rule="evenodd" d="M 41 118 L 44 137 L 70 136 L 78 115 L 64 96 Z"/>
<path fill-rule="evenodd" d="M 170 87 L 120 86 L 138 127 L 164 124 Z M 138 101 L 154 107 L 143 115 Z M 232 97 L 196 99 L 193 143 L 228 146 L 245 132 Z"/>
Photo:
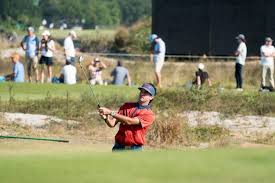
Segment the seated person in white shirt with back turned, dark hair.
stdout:
<path fill-rule="evenodd" d="M 66 65 L 61 70 L 60 83 L 73 85 L 76 84 L 76 73 L 75 66 L 71 65 L 70 61 L 66 61 Z"/>

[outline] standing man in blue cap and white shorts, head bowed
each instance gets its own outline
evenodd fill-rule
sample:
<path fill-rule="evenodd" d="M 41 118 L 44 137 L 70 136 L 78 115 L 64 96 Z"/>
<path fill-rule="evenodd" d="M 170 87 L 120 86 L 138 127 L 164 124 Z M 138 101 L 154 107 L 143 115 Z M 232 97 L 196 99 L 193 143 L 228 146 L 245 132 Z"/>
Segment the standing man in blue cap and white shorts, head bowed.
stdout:
<path fill-rule="evenodd" d="M 166 45 L 165 42 L 156 34 L 152 34 L 149 37 L 152 44 L 151 61 L 154 62 L 155 75 L 157 79 L 157 86 L 162 87 L 161 70 L 165 60 Z"/>

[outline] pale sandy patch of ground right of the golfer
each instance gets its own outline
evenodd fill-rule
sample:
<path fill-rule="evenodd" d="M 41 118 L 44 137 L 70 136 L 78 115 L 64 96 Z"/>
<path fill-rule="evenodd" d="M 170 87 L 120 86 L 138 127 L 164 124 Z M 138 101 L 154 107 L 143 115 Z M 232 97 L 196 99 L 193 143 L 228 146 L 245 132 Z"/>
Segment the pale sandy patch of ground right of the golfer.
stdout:
<path fill-rule="evenodd" d="M 185 111 L 181 114 L 191 126 L 218 125 L 232 135 L 242 138 L 258 138 L 275 133 L 275 118 L 265 116 L 229 116 L 218 112 Z"/>

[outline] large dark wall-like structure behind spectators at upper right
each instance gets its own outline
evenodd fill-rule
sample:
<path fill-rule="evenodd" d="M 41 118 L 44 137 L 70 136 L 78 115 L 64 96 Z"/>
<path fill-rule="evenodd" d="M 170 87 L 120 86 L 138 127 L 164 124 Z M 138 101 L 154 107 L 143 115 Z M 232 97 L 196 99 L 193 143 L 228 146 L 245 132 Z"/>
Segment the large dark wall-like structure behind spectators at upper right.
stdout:
<path fill-rule="evenodd" d="M 232 55 L 235 37 L 247 38 L 248 55 L 259 55 L 275 38 L 274 0 L 152 0 L 153 28 L 168 54 Z"/>

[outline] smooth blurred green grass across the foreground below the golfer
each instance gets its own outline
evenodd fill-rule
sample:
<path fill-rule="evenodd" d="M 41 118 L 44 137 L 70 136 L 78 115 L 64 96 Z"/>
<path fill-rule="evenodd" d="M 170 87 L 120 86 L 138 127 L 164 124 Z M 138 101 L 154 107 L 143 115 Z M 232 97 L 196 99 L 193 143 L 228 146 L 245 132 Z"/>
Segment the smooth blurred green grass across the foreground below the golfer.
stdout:
<path fill-rule="evenodd" d="M 2 146 L 3 147 L 3 146 Z M 43 148 L 41 145 L 40 148 Z M 1 183 L 258 183 L 275 179 L 273 149 L 1 154 Z"/>

